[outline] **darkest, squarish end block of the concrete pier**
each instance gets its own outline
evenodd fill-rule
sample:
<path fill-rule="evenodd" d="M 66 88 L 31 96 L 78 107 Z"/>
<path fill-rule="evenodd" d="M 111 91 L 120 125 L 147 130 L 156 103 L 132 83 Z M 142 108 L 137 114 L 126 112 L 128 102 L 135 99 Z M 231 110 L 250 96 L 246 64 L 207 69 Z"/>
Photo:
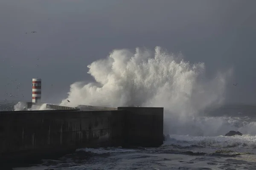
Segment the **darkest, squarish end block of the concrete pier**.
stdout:
<path fill-rule="evenodd" d="M 124 144 L 157 147 L 163 144 L 163 108 L 118 107 L 125 110 Z"/>

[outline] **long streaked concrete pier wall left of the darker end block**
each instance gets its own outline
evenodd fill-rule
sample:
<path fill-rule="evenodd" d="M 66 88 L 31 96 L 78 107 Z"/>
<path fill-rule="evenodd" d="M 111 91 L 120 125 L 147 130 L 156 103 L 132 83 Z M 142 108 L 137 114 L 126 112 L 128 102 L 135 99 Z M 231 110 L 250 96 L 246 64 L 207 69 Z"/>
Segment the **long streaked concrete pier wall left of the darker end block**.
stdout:
<path fill-rule="evenodd" d="M 119 146 L 124 111 L 0 113 L 0 161 L 40 159 L 79 147 Z"/>

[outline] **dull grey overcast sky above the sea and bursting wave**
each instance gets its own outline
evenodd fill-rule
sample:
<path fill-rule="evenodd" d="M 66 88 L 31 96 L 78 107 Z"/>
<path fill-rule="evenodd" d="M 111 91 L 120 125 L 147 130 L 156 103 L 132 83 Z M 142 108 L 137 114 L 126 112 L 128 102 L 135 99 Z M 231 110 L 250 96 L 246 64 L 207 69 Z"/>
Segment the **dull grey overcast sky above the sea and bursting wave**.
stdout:
<path fill-rule="evenodd" d="M 1 0 L 0 99 L 31 101 L 40 77 L 61 100 L 113 49 L 161 46 L 209 76 L 233 67 L 227 102 L 256 103 L 255 18 L 256 0 Z"/>

